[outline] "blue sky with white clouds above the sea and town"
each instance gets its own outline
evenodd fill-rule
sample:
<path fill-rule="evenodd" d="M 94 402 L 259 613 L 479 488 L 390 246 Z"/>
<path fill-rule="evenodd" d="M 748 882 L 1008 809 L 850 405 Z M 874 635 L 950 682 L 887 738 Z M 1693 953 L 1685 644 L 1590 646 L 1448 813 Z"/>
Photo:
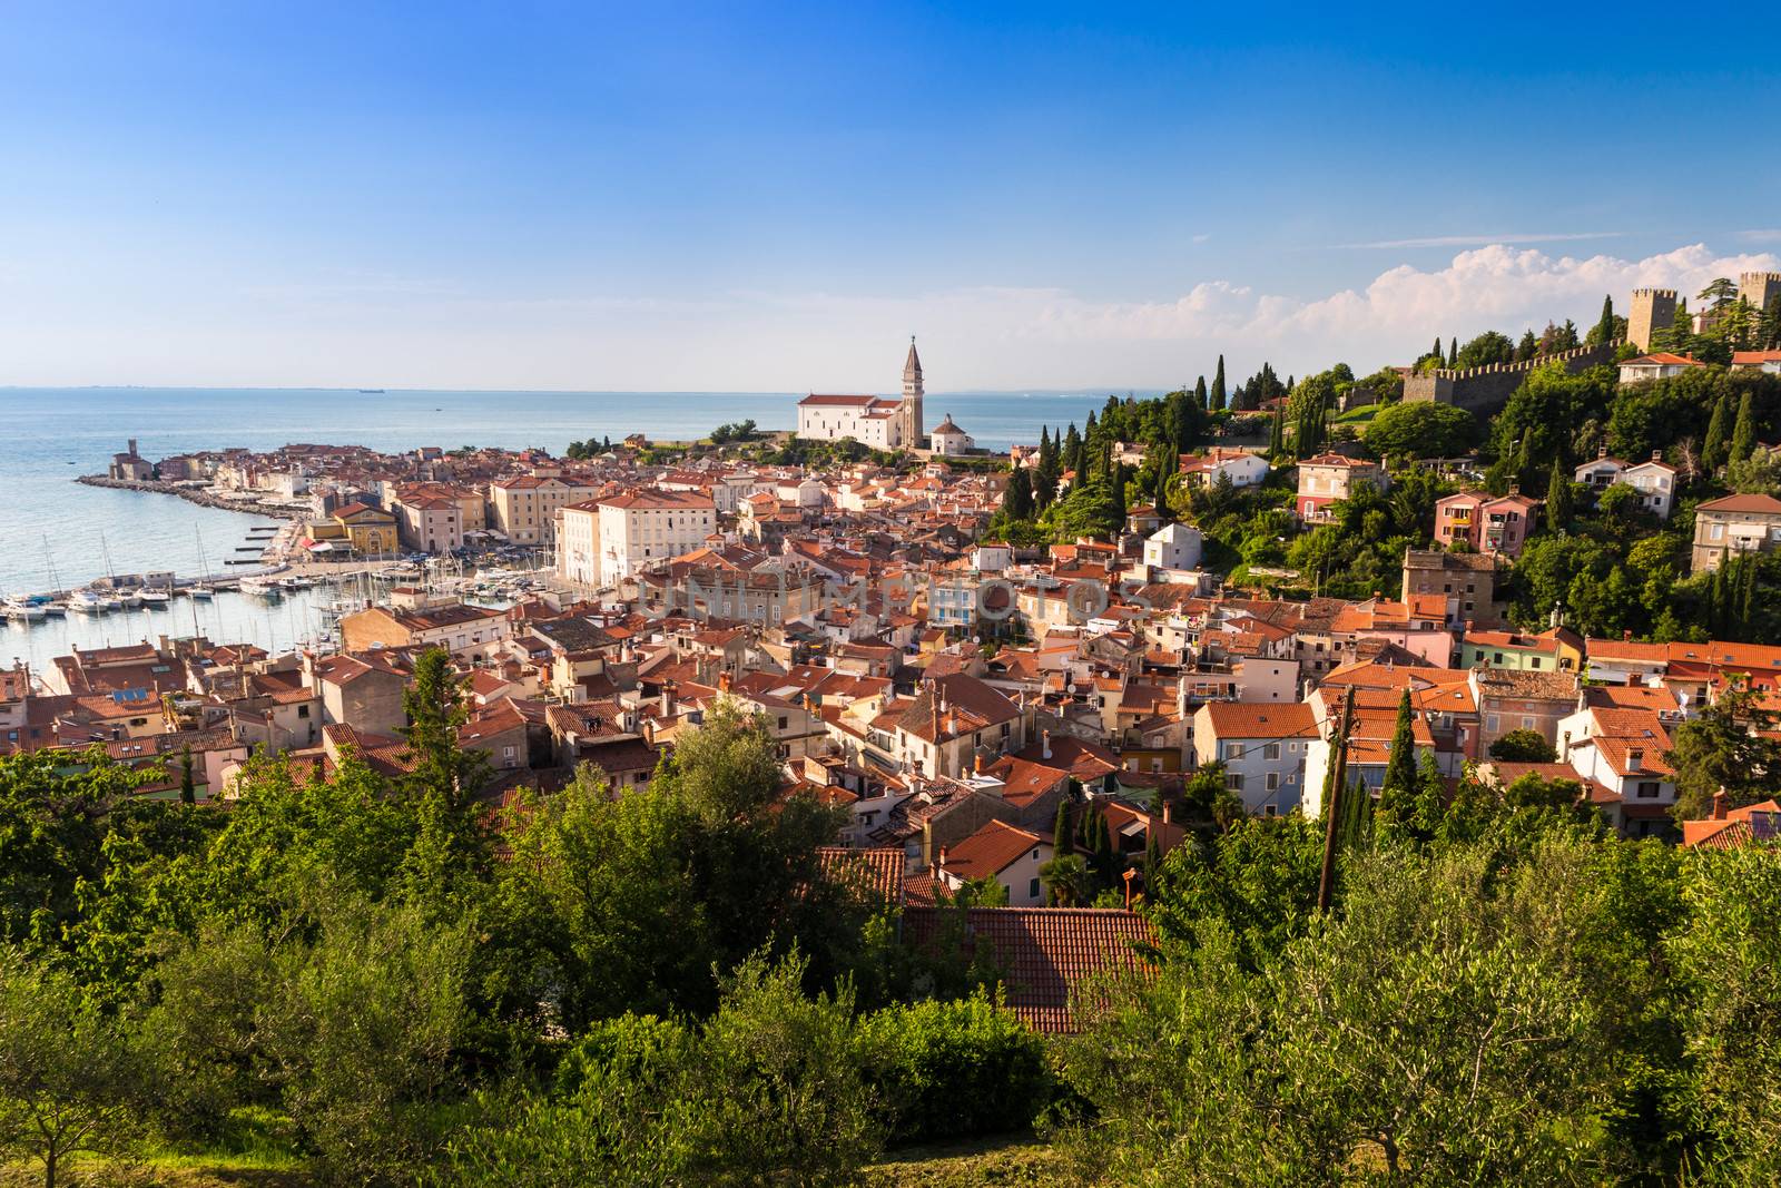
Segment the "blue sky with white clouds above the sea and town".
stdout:
<path fill-rule="evenodd" d="M 1159 387 L 1781 251 L 1760 9 L 0 16 L 0 383 Z"/>

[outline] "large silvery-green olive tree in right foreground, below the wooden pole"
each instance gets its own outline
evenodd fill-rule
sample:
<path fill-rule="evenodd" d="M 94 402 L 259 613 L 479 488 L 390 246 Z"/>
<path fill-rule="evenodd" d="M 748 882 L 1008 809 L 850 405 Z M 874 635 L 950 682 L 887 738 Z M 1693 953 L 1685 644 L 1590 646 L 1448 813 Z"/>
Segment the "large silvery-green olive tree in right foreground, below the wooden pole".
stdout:
<path fill-rule="evenodd" d="M 1345 912 L 1250 971 L 1227 932 L 1115 983 L 1063 1046 L 1104 1183 L 1576 1183 L 1615 1158 L 1630 983 L 1576 842 L 1355 855 Z M 1265 1131 L 1245 1124 L 1270 1119 Z"/>

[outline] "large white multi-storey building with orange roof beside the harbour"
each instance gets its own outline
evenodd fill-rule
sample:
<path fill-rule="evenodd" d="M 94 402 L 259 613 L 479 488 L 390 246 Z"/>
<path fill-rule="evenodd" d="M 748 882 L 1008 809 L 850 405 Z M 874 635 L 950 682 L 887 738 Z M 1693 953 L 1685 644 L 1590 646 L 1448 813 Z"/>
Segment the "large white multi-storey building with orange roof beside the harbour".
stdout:
<path fill-rule="evenodd" d="M 613 586 L 700 549 L 716 525 L 718 508 L 702 492 L 634 490 L 568 504 L 557 513 L 557 574 Z"/>

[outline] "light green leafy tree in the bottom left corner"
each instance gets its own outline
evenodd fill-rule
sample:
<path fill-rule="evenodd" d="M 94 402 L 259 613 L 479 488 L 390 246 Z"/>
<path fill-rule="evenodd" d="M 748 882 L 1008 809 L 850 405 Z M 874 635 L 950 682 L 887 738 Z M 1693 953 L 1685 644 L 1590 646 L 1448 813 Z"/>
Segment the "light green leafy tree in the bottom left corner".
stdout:
<path fill-rule="evenodd" d="M 0 948 L 0 1158 L 64 1183 L 78 1154 L 110 1154 L 139 1133 L 141 1067 L 118 1019 L 75 981 Z"/>

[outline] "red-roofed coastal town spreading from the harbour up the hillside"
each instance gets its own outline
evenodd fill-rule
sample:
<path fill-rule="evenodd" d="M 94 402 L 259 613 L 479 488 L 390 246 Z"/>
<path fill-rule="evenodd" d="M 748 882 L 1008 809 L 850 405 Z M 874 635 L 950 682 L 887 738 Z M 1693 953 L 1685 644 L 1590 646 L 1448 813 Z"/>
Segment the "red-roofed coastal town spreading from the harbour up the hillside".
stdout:
<path fill-rule="evenodd" d="M 1742 283 L 1745 301 L 1774 308 L 1781 276 Z M 1532 347 L 1525 362 L 1468 370 L 1437 344 L 1435 367 L 1387 369 L 1339 394 L 1316 376 L 1277 395 L 1259 383 L 1227 395 L 1220 362 L 1211 394 L 1110 397 L 1086 433 L 1072 424 L 1065 440 L 1047 426 L 1008 454 L 976 447 L 949 415 L 926 427 L 914 342 L 898 397 L 812 394 L 794 431 L 727 426 L 703 443 L 639 433 L 577 442 L 563 458 L 287 445 L 148 461 L 132 442 L 107 479 L 287 513 L 265 557 L 272 575 L 244 588 L 276 597 L 280 582 L 329 566 L 378 582 L 342 609 L 337 632 L 289 654 L 160 636 L 16 668 L 0 745 L 98 745 L 141 764 L 191 755 L 196 796 L 224 805 L 256 753 L 319 773 L 354 753 L 399 773 L 404 689 L 442 648 L 467 682 L 458 734 L 490 761 L 477 789 L 490 803 L 561 787 L 586 764 L 614 791 L 643 785 L 728 702 L 771 723 L 787 794 L 846 807 L 841 841 L 894 873 L 901 905 L 978 880 L 1001 885 L 1006 910 L 1054 905 L 1063 896 L 1040 867 L 1094 818 L 1122 878 L 1070 901 L 1124 907 L 1142 896 L 1147 864 L 1190 837 L 1193 814 L 1320 818 L 1332 791 L 1378 796 L 1402 764 L 1444 796 L 1460 782 L 1533 780 L 1573 789 L 1624 837 L 1726 844 L 1772 830 L 1777 807 L 1728 812 L 1715 796 L 1692 801 L 1697 819 L 1679 814 L 1674 732 L 1728 696 L 1781 696 L 1781 647 L 1599 634 L 1564 595 L 1530 602 L 1517 563 L 1553 531 L 1553 502 L 1576 517 L 1576 500 L 1614 502 L 1631 524 L 1671 531 L 1687 497 L 1692 531 L 1674 545 L 1674 577 L 1724 584 L 1781 547 L 1781 500 L 1699 497 L 1712 483 L 1703 451 L 1726 449 L 1713 442 L 1660 442 L 1628 460 L 1605 436 L 1553 463 L 1533 497 L 1487 476 L 1476 454 L 1382 449 L 1375 436 L 1418 408 L 1501 413 L 1469 392 L 1480 379 L 1501 388 L 1505 374 L 1525 388 L 1596 367 L 1628 399 L 1685 372 L 1770 385 L 1781 372 L 1774 349 L 1726 365 L 1647 353 L 1653 333 L 1671 333 L 1662 319 L 1653 328 L 1651 299 L 1633 296 L 1646 342 L 1628 344 L 1610 308 L 1587 347 Z M 1307 390 L 1314 426 L 1300 408 Z M 1371 426 L 1348 420 L 1362 406 Z M 1199 427 L 1181 436 L 1183 420 Z M 1145 424 L 1147 438 L 1106 431 L 1126 424 Z M 1754 440 L 1738 449 L 1733 465 L 1772 458 Z M 1380 533 L 1403 538 L 1389 588 L 1339 597 L 1327 563 L 1322 575 L 1293 565 L 1302 541 L 1332 538 L 1357 511 L 1384 517 L 1411 492 L 1416 531 Z M 1209 525 L 1243 499 L 1263 500 L 1254 515 L 1281 540 L 1234 554 Z M 1029 531 L 1038 500 L 1081 511 L 1085 531 Z M 533 568 L 492 579 L 465 557 Z M 176 789 L 167 769 L 144 794 Z M 1056 1021 L 1060 992 L 1013 1001 Z"/>

